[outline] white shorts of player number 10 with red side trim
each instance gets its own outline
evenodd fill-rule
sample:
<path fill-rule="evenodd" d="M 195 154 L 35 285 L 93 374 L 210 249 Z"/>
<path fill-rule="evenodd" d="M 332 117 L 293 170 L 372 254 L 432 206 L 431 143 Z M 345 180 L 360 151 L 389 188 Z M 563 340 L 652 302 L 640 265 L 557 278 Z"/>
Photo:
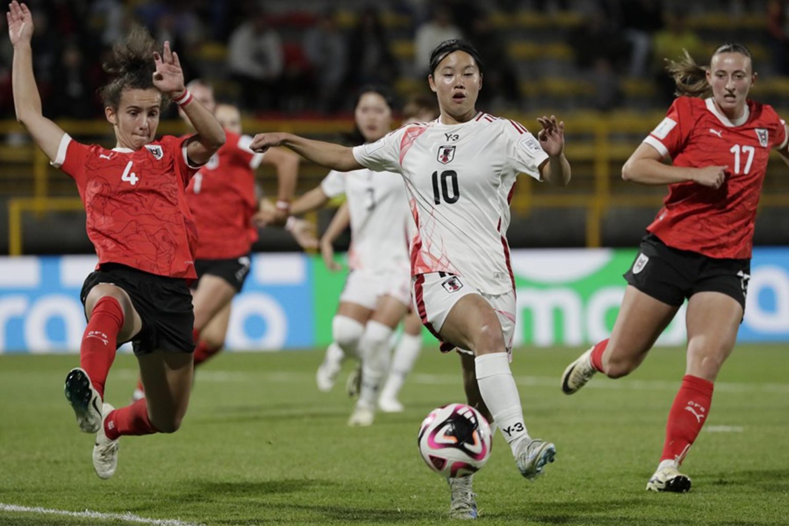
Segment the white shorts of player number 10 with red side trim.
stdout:
<path fill-rule="evenodd" d="M 515 334 L 515 291 L 510 290 L 503 294 L 486 294 L 471 285 L 467 285 L 462 276 L 447 274 L 445 272 L 431 272 L 413 277 L 413 299 L 417 313 L 424 326 L 439 339 L 439 332 L 447 321 L 449 311 L 460 298 L 466 294 L 479 294 L 493 308 L 501 323 L 504 336 L 504 345 L 507 353 L 512 351 L 512 338 Z M 454 345 L 441 341 L 441 351 L 447 353 L 454 349 Z M 458 352 L 471 353 L 468 349 L 459 349 Z"/>

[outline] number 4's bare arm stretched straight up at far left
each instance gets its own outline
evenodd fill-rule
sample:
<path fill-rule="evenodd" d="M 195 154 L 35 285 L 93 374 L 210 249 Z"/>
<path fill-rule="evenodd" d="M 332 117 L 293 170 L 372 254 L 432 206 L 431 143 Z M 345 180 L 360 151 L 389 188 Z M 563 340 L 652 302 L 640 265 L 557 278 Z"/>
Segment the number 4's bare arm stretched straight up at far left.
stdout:
<path fill-rule="evenodd" d="M 33 53 L 30 47 L 33 35 L 32 13 L 28 6 L 14 0 L 9 5 L 6 19 L 13 46 L 11 85 L 17 121 L 24 125 L 47 157 L 57 159 L 58 147 L 65 132 L 41 113 L 41 97 L 33 76 Z"/>

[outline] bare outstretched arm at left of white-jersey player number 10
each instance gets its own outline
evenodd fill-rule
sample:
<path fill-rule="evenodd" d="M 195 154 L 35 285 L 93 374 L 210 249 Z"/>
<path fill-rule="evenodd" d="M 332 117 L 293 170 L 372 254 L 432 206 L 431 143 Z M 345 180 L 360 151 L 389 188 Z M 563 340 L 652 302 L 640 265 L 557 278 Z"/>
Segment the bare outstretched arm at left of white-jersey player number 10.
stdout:
<path fill-rule="evenodd" d="M 353 148 L 321 140 L 305 139 L 293 133 L 258 133 L 252 139 L 252 144 L 249 145 L 252 151 L 260 153 L 267 151 L 272 146 L 288 147 L 301 157 L 338 172 L 350 172 L 364 168 L 353 157 Z"/>

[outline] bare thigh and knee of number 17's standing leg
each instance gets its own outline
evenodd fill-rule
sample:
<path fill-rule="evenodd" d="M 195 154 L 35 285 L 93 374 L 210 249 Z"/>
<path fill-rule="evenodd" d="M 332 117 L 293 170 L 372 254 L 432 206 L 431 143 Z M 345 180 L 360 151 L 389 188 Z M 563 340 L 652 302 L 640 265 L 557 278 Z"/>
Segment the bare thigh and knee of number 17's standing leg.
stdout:
<path fill-rule="evenodd" d="M 690 297 L 686 374 L 714 382 L 735 347 L 741 320 L 742 305 L 726 293 L 702 292 Z"/>

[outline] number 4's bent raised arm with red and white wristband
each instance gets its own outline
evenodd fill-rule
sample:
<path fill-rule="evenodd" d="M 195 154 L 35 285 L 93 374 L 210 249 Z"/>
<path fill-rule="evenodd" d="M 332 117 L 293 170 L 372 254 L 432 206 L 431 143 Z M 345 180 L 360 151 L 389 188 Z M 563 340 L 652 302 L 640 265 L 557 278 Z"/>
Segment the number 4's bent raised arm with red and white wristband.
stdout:
<path fill-rule="evenodd" d="M 186 147 L 186 155 L 197 164 L 208 162 L 225 144 L 225 130 L 214 115 L 186 91 L 181 62 L 178 54 L 170 50 L 170 43 L 165 42 L 163 54 L 154 53 L 153 58 L 156 64 L 153 85 L 181 106 L 197 132 Z"/>

